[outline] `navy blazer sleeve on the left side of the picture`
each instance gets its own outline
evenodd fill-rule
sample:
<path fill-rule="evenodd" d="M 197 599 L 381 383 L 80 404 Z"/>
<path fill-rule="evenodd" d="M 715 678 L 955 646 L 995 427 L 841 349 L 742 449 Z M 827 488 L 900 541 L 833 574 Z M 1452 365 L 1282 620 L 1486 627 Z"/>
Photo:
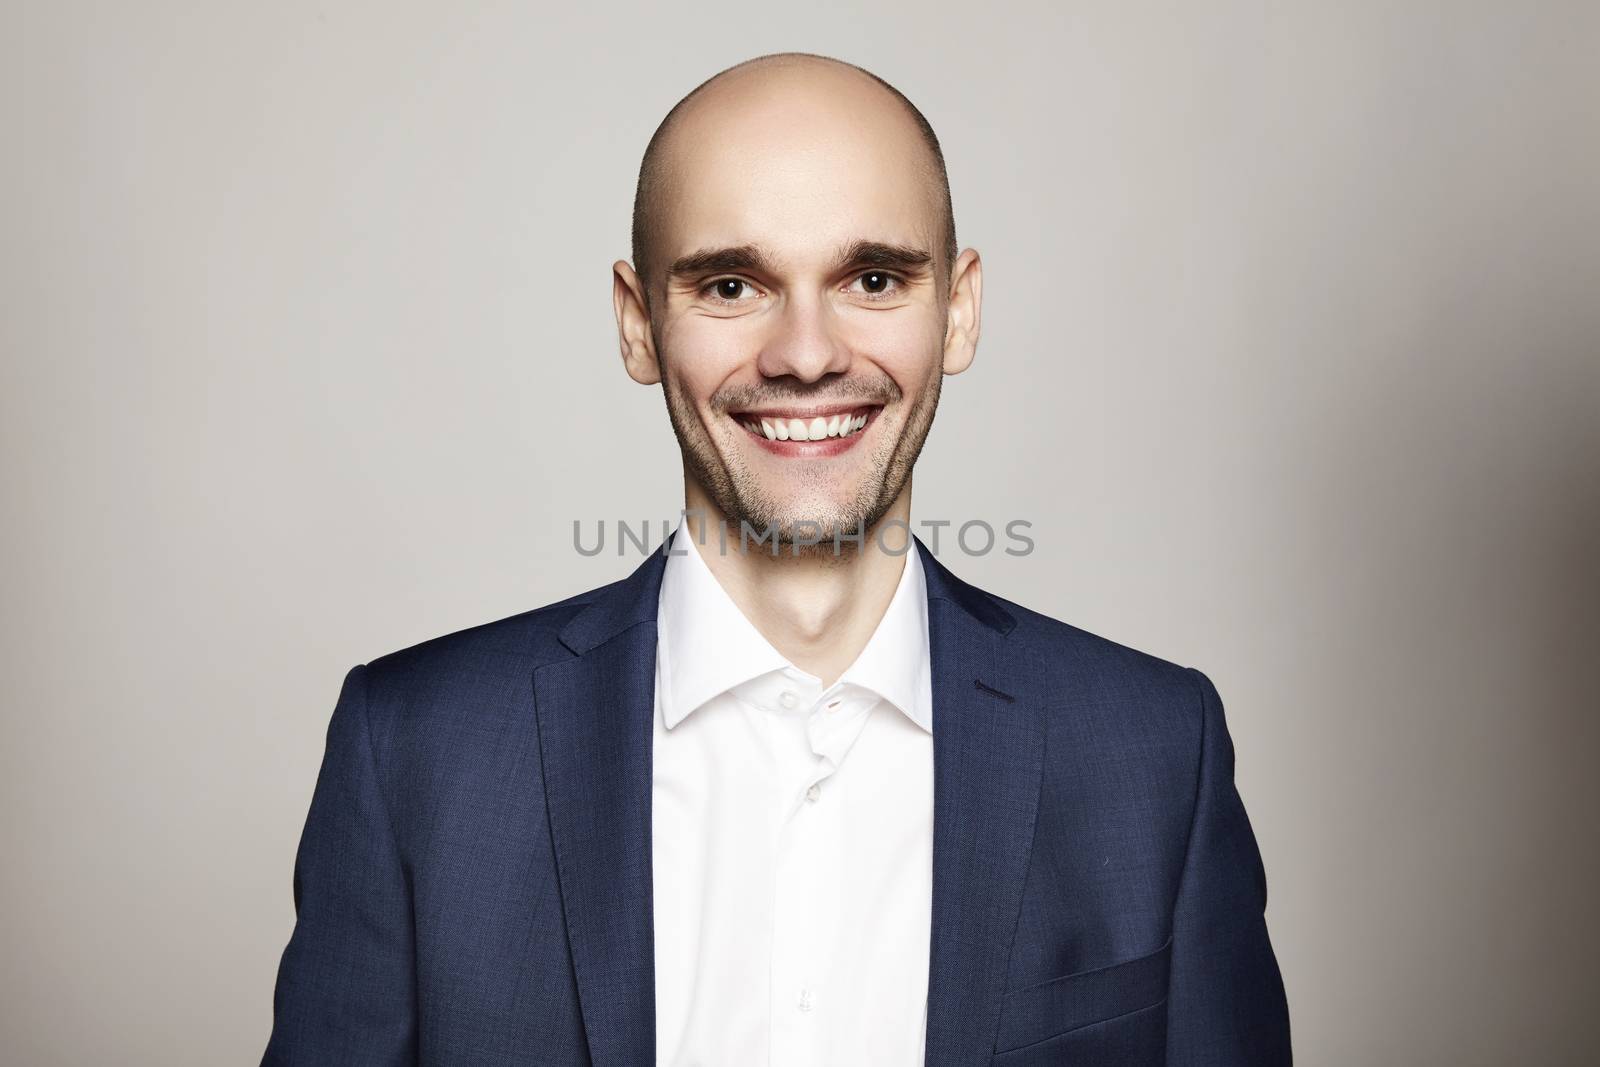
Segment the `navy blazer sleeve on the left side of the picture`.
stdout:
<path fill-rule="evenodd" d="M 344 677 L 294 857 L 262 1065 L 416 1062 L 411 888 L 379 787 L 366 667 Z"/>

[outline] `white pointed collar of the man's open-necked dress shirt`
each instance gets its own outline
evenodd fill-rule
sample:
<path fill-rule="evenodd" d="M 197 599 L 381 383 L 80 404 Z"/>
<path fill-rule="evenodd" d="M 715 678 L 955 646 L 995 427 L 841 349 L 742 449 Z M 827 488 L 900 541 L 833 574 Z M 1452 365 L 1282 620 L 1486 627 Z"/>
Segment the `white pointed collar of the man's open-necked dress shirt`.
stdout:
<path fill-rule="evenodd" d="M 667 729 L 712 697 L 773 670 L 798 670 L 762 637 L 710 573 L 680 522 L 661 576 L 658 670 Z M 803 672 L 802 672 L 803 673 Z M 933 733 L 928 592 L 922 558 L 906 552 L 899 584 L 866 648 L 832 688 L 858 685 Z"/>

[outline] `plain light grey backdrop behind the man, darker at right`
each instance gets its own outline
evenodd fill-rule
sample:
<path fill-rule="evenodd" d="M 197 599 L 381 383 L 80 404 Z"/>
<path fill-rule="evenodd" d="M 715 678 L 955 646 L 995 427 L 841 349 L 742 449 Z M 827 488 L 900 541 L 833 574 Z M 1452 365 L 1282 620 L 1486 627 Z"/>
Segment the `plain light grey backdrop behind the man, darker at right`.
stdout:
<path fill-rule="evenodd" d="M 986 315 L 915 514 L 1218 683 L 1299 1062 L 1592 1054 L 1595 6 L 598 8 L 5 6 L 5 1061 L 254 1062 L 342 672 L 675 514 L 610 262 L 778 50 L 938 128 Z"/>

